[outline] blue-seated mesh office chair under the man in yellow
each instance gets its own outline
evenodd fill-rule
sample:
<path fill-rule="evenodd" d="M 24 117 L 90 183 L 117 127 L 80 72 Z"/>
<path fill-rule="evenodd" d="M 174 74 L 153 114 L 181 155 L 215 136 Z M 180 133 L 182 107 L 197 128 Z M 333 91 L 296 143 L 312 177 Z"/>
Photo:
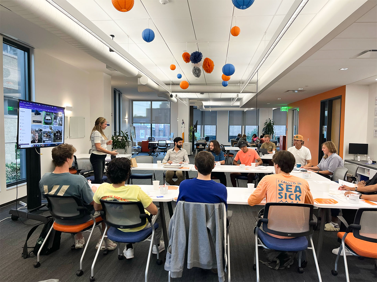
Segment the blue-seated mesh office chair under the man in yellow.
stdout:
<path fill-rule="evenodd" d="M 118 259 L 123 260 L 124 256 L 121 251 L 121 243 L 139 243 L 147 240 L 150 236 L 149 252 L 147 259 L 147 266 L 145 270 L 145 281 L 148 280 L 148 269 L 150 256 L 152 255 L 153 243 L 158 250 L 159 238 L 155 238 L 155 230 L 158 228 L 158 223 L 152 224 L 152 215 L 148 215 L 144 211 L 144 206 L 141 202 L 124 202 L 124 201 L 106 201 L 100 200 L 102 205 L 101 217 L 106 224 L 105 230 L 103 232 L 100 246 L 103 243 L 104 238 L 110 239 L 119 244 L 118 246 Z M 136 232 L 123 232 L 119 230 L 127 228 L 135 228 L 144 226 L 146 223 L 150 223 L 150 227 L 147 229 L 142 229 Z M 106 235 L 107 232 L 107 235 Z M 105 244 L 105 248 L 107 244 Z M 92 272 L 90 274 L 90 282 L 95 280 L 94 278 L 94 266 L 97 261 L 98 253 L 101 248 L 98 248 L 95 258 L 92 264 Z M 159 252 L 157 252 L 158 265 L 162 264 L 162 259 L 159 258 Z M 139 265 L 135 265 L 139 267 Z"/>

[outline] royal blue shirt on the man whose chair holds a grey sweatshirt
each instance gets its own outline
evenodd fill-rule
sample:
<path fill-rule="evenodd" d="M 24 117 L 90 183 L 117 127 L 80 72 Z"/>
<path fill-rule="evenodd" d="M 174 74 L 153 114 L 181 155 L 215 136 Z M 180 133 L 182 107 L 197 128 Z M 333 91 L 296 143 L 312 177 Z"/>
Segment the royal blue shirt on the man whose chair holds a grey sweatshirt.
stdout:
<path fill-rule="evenodd" d="M 227 204 L 227 188 L 213 180 L 186 179 L 179 184 L 178 201 L 193 203 L 225 203 Z"/>

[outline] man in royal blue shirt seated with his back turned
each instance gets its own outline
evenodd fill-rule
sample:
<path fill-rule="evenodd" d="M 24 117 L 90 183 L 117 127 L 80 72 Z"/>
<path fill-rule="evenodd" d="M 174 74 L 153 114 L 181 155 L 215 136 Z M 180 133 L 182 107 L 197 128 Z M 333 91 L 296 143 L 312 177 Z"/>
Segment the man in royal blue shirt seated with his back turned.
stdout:
<path fill-rule="evenodd" d="M 194 203 L 225 203 L 227 205 L 227 188 L 211 180 L 211 171 L 215 167 L 215 158 L 210 152 L 201 151 L 195 156 L 195 169 L 198 177 L 186 179 L 179 185 L 178 201 Z"/>

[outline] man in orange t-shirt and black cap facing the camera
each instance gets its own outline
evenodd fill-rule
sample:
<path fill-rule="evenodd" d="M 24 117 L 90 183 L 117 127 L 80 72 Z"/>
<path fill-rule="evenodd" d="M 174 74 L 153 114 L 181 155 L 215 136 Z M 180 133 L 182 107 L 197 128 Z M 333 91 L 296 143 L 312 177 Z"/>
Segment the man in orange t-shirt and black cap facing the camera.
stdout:
<path fill-rule="evenodd" d="M 261 158 L 259 157 L 258 153 L 254 149 L 248 149 L 247 142 L 244 139 L 238 141 L 238 147 L 241 149 L 237 152 L 237 155 L 234 157 L 233 165 L 239 165 L 238 160 L 241 164 L 250 165 L 252 162 L 257 160 L 258 162 L 255 164 L 261 165 L 263 164 Z M 236 187 L 236 177 L 237 176 L 247 176 L 247 183 L 252 183 L 255 177 L 255 173 L 241 173 L 241 172 L 232 172 L 230 173 L 230 180 L 232 182 L 233 187 Z"/>

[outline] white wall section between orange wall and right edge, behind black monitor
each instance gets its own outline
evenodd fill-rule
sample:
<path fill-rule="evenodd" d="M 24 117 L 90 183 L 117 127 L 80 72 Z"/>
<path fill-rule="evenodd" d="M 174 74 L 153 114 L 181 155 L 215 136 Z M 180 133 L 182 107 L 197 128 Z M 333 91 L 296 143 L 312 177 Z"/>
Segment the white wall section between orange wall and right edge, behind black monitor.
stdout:
<path fill-rule="evenodd" d="M 368 99 L 368 86 L 346 85 L 343 159 L 353 158 L 348 154 L 349 143 L 367 143 Z"/>

